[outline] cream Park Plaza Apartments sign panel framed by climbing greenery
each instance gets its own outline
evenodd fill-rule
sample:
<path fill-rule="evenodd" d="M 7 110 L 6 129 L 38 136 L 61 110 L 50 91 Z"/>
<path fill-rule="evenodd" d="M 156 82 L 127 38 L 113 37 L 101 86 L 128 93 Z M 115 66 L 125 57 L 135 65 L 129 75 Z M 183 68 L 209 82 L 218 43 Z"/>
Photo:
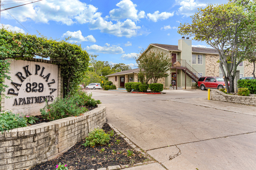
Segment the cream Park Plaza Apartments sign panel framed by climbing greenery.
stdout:
<path fill-rule="evenodd" d="M 13 113 L 38 115 L 45 102 L 50 104 L 60 95 L 60 69 L 48 60 L 34 61 L 12 60 L 11 80 L 6 80 L 9 87 L 5 95 L 8 98 L 1 103 L 2 110 Z M 36 62 L 41 61 L 41 62 Z"/>

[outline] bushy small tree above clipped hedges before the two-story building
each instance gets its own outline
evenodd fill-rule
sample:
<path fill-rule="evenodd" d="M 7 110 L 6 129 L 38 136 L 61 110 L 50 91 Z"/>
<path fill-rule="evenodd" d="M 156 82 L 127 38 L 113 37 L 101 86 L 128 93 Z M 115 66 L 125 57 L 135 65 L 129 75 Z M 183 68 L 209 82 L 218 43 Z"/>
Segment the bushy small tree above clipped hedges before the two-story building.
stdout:
<path fill-rule="evenodd" d="M 149 80 L 156 83 L 159 78 L 167 77 L 166 71 L 172 64 L 169 55 L 159 50 L 141 51 L 136 62 L 144 73 L 146 84 Z"/>

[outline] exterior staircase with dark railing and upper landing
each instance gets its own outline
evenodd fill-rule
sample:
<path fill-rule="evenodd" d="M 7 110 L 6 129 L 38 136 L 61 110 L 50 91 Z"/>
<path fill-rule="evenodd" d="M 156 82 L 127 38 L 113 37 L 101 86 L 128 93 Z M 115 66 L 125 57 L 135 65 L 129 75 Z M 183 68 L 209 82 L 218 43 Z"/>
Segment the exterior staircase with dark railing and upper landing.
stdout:
<path fill-rule="evenodd" d="M 198 82 L 199 77 L 197 71 L 189 65 L 185 59 L 174 59 L 172 60 L 172 67 L 171 69 L 181 69 L 186 75 L 188 75 L 192 80 Z"/>

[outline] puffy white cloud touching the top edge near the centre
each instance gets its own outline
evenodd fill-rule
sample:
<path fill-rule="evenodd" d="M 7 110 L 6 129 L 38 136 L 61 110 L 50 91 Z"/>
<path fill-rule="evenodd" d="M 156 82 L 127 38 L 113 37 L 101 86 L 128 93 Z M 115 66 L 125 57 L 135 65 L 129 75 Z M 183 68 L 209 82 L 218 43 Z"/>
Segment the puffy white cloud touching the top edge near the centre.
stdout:
<path fill-rule="evenodd" d="M 144 11 L 140 11 L 139 14 L 137 14 L 138 10 L 135 8 L 137 7 L 137 5 L 130 0 L 122 0 L 117 3 L 116 6 L 119 8 L 112 9 L 109 12 L 110 18 L 112 20 L 121 20 L 126 18 L 130 18 L 132 20 L 139 20 L 145 17 Z"/>

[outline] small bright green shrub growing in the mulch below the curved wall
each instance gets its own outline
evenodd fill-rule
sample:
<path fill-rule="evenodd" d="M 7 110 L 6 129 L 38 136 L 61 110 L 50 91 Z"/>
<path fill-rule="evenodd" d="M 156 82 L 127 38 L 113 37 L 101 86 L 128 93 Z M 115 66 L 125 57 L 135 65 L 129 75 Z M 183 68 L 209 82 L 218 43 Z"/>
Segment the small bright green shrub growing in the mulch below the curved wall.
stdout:
<path fill-rule="evenodd" d="M 97 128 L 91 131 L 85 139 L 85 143 L 82 144 L 84 146 L 106 145 L 110 141 L 110 134 L 105 133 L 103 129 Z"/>

